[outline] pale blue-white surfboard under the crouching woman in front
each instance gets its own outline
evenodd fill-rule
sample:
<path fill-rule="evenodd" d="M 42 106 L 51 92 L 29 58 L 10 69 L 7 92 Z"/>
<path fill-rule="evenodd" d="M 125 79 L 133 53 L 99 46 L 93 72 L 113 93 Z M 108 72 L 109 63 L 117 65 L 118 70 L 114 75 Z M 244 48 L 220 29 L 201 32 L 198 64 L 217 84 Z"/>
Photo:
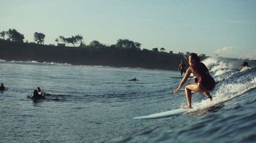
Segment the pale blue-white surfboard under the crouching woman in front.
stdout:
<path fill-rule="evenodd" d="M 159 118 L 167 118 L 167 117 L 174 117 L 177 115 L 181 115 L 182 113 L 187 112 L 190 109 L 174 109 L 170 111 L 160 112 L 160 113 L 154 113 L 152 115 L 147 116 L 140 116 L 140 117 L 134 117 L 134 119 L 159 119 Z"/>

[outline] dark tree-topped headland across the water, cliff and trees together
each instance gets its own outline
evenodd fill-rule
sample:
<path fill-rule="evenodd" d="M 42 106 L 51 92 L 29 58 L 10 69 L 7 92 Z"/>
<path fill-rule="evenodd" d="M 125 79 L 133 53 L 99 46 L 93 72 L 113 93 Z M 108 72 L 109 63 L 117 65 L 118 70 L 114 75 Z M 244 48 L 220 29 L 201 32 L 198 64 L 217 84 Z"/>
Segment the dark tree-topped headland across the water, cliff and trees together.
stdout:
<path fill-rule="evenodd" d="M 156 52 L 148 49 L 141 49 L 141 44 L 128 39 L 119 39 L 116 44 L 105 45 L 93 40 L 86 45 L 81 35 L 71 37 L 59 36 L 56 42 L 75 44 L 79 48 L 69 46 L 44 45 L 45 35 L 34 33 L 34 41 L 25 43 L 24 35 L 15 29 L 3 31 L 0 36 L 0 57 L 3 60 L 16 61 L 38 61 L 70 63 L 74 65 L 103 65 L 113 67 L 141 67 L 149 69 L 172 69 L 176 70 L 185 53 Z M 37 53 L 44 53 L 42 56 Z M 204 59 L 205 57 L 201 57 Z M 186 61 L 185 61 L 186 62 Z"/>

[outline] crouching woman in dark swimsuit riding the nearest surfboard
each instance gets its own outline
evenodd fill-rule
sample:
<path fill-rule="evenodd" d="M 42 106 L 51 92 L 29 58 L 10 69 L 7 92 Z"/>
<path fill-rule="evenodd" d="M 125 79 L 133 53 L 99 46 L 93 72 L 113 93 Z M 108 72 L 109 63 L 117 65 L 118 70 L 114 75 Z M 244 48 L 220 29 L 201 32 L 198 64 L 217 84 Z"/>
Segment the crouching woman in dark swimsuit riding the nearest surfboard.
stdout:
<path fill-rule="evenodd" d="M 187 58 L 185 58 L 187 60 Z M 187 99 L 187 106 L 184 106 L 183 108 L 192 108 L 191 107 L 191 91 L 193 92 L 199 92 L 203 93 L 207 98 L 212 100 L 212 97 L 210 96 L 210 91 L 214 90 L 215 88 L 215 80 L 212 78 L 209 74 L 209 71 L 207 67 L 200 62 L 200 58 L 196 53 L 190 53 L 188 57 L 188 63 L 190 67 L 187 69 L 185 76 L 180 82 L 180 85 L 177 90 L 174 91 L 174 94 L 178 93 L 181 89 L 181 87 L 185 84 L 187 81 L 189 75 L 193 73 L 197 77 L 197 82 L 190 83 L 185 88 L 185 95 Z"/>

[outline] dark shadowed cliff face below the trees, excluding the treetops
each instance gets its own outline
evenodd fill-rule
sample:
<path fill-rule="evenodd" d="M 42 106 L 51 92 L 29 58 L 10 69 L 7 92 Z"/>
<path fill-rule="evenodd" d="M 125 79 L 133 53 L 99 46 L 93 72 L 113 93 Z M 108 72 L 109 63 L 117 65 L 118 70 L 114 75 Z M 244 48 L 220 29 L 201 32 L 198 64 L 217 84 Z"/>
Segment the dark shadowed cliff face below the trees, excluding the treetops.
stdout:
<path fill-rule="evenodd" d="M 6 61 L 55 62 L 164 70 L 177 70 L 180 60 L 183 59 L 181 54 L 145 49 L 119 49 L 114 46 L 99 48 L 48 46 L 5 40 L 0 40 L 0 50 L 0 59 Z"/>

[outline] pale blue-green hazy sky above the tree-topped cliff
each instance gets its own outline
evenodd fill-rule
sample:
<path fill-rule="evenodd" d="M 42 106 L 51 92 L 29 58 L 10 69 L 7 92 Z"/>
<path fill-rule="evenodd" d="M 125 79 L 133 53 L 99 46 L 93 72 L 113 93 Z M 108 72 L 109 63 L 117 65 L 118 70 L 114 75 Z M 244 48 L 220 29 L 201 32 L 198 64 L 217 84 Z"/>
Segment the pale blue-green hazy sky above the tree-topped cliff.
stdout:
<path fill-rule="evenodd" d="M 0 6 L 0 31 L 14 28 L 24 41 L 38 32 L 56 45 L 59 36 L 79 34 L 87 45 L 129 39 L 141 49 L 256 60 L 254 0 L 0 0 Z"/>

